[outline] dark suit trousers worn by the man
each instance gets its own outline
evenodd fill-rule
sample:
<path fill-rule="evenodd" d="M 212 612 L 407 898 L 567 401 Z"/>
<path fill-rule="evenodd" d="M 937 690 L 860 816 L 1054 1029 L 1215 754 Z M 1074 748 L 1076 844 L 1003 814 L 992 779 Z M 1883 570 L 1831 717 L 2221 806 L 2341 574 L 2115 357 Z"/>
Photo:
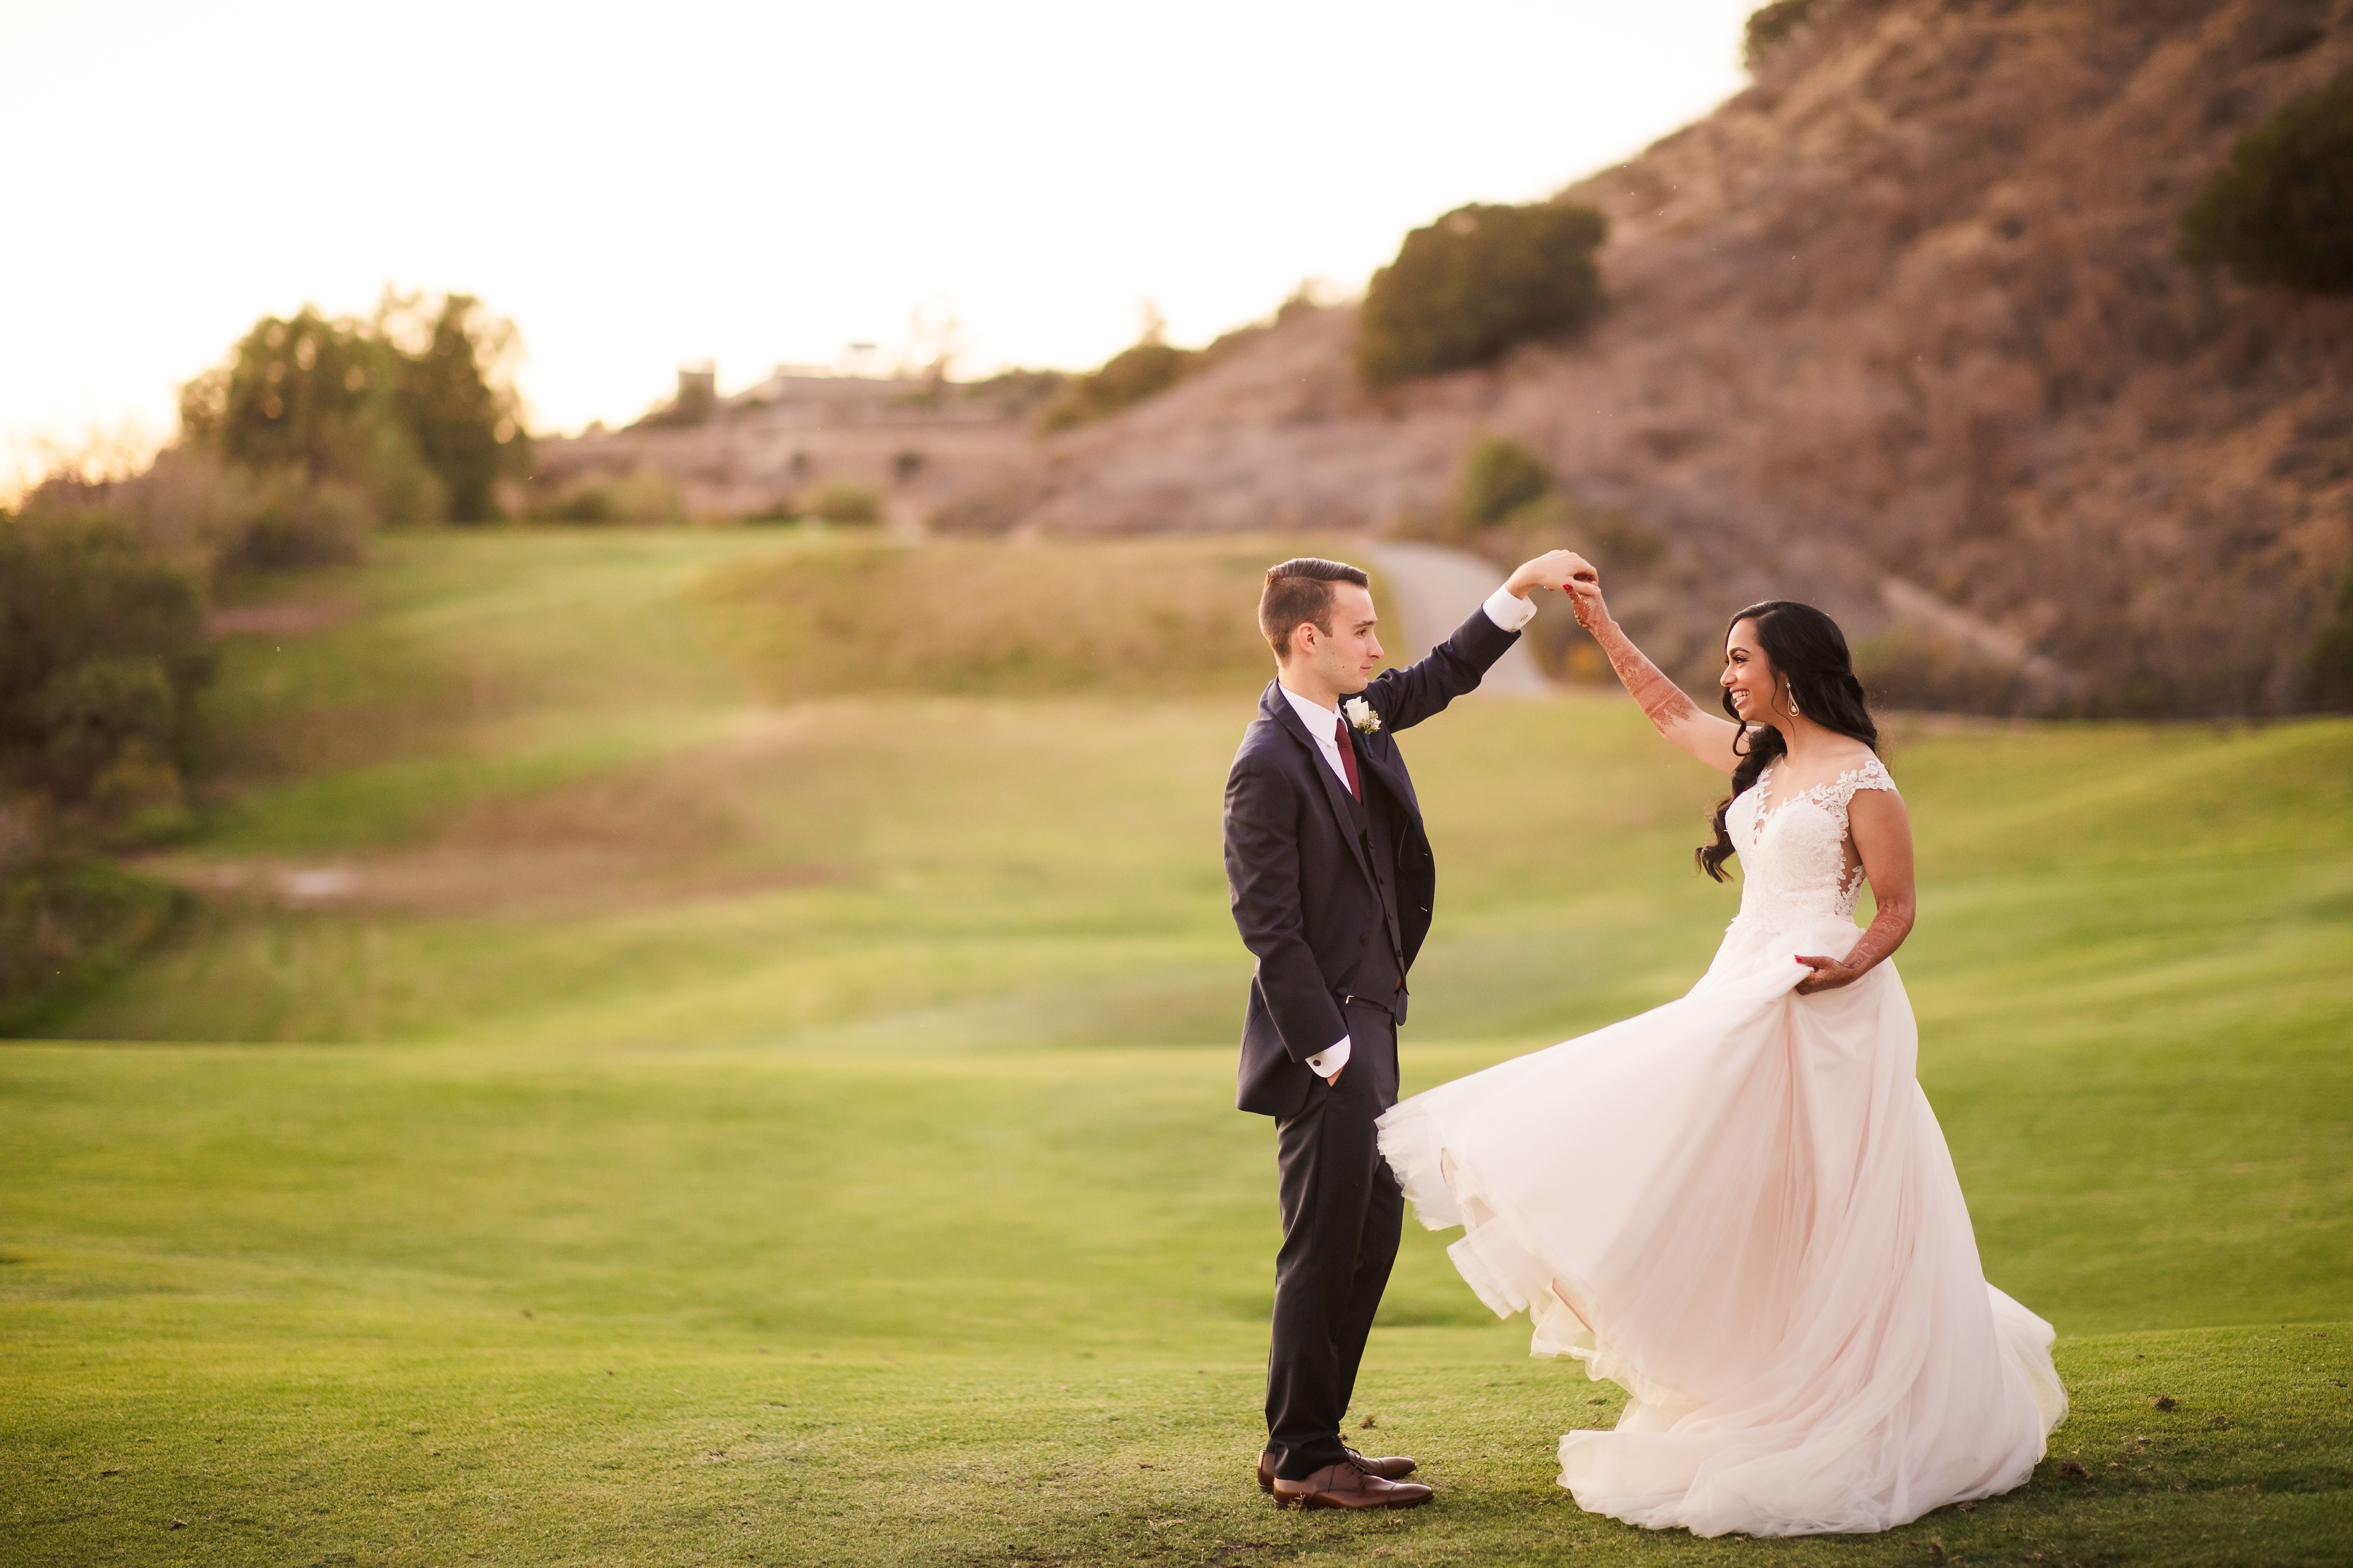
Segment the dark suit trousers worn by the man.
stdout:
<path fill-rule="evenodd" d="M 1282 1251 L 1266 1356 L 1266 1446 L 1285 1481 L 1348 1458 L 1339 1422 L 1405 1225 L 1405 1194 L 1372 1126 L 1398 1103 L 1398 1034 L 1377 1009 L 1351 1006 L 1348 1025 L 1339 1084 L 1318 1081 L 1306 1107 L 1275 1128 Z"/>

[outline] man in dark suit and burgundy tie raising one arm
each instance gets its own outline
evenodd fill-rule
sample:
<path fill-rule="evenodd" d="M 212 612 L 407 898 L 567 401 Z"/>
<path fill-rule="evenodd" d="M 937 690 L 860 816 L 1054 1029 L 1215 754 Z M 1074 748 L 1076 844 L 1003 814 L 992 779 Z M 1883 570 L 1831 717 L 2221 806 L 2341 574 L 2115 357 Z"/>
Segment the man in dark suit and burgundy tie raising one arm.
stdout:
<path fill-rule="evenodd" d="M 1438 886 L 1395 731 L 1478 686 L 1537 614 L 1534 588 L 1586 571 L 1569 550 L 1539 555 L 1428 658 L 1379 679 L 1362 571 L 1313 557 L 1266 571 L 1275 679 L 1226 776 L 1226 882 L 1259 957 L 1235 1105 L 1275 1117 L 1282 1251 L 1259 1486 L 1285 1507 L 1431 1500 L 1405 1481 L 1412 1460 L 1339 1436 L 1405 1220 L 1372 1124 L 1398 1103 L 1405 976 Z"/>

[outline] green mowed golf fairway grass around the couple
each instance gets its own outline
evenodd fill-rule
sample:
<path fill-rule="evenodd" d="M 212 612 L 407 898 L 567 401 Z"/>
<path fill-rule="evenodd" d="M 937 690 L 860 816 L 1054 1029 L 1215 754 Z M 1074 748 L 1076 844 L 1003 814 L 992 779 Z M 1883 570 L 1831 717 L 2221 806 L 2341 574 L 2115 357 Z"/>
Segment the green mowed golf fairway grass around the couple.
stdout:
<path fill-rule="evenodd" d="M 400 538 L 273 590 L 348 618 L 231 644 L 235 788 L 158 863 L 202 910 L 0 1048 L 0 1561 L 2348 1556 L 2353 724 L 1894 726 L 1922 1079 L 2075 1396 L 2028 1488 L 1882 1537 L 1586 1516 L 1551 1453 L 1614 1389 L 1414 1227 L 1351 1422 L 1440 1502 L 1275 1514 L 1217 858 L 1264 677 L 1073 623 L 1000 658 L 1047 696 L 927 689 L 958 607 L 892 689 L 781 701 L 744 635 L 779 557 L 880 595 L 819 621 L 918 639 L 1016 559 L 831 550 Z M 1148 550 L 1252 557 L 1016 569 L 1181 576 Z M 1118 668 L 1068 677 L 1089 646 Z M 1440 856 L 1409 1088 L 1697 978 L 1715 780 L 1631 705 L 1471 701 L 1405 748 Z"/>

